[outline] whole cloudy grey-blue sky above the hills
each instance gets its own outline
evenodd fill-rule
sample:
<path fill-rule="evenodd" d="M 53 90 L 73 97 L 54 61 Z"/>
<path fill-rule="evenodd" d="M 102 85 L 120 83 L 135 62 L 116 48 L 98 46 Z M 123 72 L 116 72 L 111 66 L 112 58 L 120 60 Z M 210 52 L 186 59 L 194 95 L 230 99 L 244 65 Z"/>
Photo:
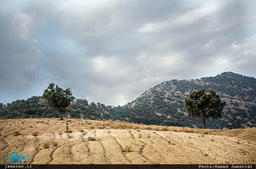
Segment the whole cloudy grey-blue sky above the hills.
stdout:
<path fill-rule="evenodd" d="M 1 0 L 0 103 L 124 105 L 172 79 L 256 77 L 255 0 Z"/>

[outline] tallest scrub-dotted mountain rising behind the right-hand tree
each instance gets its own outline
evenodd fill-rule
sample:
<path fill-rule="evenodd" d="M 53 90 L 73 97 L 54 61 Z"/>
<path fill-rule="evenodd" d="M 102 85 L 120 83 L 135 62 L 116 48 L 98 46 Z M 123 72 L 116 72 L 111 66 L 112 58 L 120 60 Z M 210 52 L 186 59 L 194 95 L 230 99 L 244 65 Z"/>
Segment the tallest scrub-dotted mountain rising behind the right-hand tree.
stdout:
<path fill-rule="evenodd" d="M 144 123 L 150 119 L 151 123 L 162 125 L 202 127 L 200 119 L 189 116 L 184 107 L 184 99 L 198 88 L 216 90 L 227 103 L 223 118 L 208 119 L 207 127 L 256 127 L 256 79 L 232 72 L 196 80 L 162 82 L 126 104 L 124 109 L 129 110 L 130 115 L 122 116 Z"/>

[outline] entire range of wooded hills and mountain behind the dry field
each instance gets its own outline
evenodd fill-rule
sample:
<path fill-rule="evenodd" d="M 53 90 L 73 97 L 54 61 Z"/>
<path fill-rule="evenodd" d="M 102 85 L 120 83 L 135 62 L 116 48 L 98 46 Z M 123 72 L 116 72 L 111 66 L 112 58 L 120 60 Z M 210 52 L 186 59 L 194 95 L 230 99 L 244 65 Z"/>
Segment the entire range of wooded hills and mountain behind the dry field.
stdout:
<path fill-rule="evenodd" d="M 148 89 L 139 98 L 125 106 L 106 106 L 101 103 L 88 104 L 86 99 L 76 99 L 67 109 L 66 115 L 75 118 L 113 119 L 144 124 L 181 127 L 202 127 L 201 120 L 189 116 L 184 99 L 197 88 L 208 91 L 212 88 L 227 103 L 221 119 L 207 119 L 209 128 L 256 127 L 256 79 L 224 72 L 218 76 L 195 80 L 172 80 Z M 0 104 L 0 118 L 53 117 L 42 97 L 16 100 L 7 105 Z"/>

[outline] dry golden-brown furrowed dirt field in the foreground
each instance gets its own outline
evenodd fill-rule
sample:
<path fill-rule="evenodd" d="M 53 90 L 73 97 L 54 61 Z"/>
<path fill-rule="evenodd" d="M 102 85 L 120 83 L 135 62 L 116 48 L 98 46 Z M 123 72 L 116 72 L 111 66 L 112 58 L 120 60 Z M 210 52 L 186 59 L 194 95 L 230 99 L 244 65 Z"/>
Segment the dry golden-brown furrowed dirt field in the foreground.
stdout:
<path fill-rule="evenodd" d="M 66 132 L 68 121 L 69 131 Z M 256 128 L 193 129 L 122 121 L 0 120 L 0 164 L 256 164 Z"/>

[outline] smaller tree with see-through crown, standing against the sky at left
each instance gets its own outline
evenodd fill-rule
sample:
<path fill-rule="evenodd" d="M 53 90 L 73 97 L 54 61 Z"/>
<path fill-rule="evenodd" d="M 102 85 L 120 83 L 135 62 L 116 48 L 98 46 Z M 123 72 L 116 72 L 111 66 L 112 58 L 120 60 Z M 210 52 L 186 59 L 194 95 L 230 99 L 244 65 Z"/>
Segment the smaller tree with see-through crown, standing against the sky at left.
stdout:
<path fill-rule="evenodd" d="M 61 87 L 55 86 L 54 83 L 49 83 L 49 87 L 44 90 L 43 98 L 47 101 L 49 107 L 58 112 L 61 120 L 63 120 L 61 114 L 65 112 L 74 99 L 70 88 L 63 90 Z"/>

